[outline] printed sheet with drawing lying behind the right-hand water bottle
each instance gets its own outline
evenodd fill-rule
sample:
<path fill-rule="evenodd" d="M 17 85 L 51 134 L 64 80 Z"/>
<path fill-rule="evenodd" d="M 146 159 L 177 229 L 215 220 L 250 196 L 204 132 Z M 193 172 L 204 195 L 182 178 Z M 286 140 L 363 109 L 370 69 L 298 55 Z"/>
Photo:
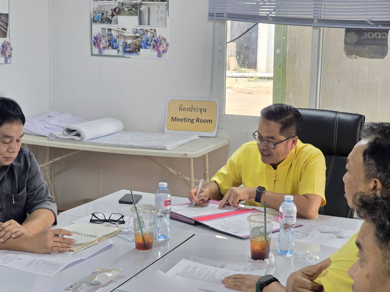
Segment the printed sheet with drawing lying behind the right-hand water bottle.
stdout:
<path fill-rule="evenodd" d="M 350 229 L 305 224 L 294 229 L 294 236 L 296 241 L 340 248 L 356 232 Z M 278 237 L 278 234 L 273 234 L 272 237 Z"/>

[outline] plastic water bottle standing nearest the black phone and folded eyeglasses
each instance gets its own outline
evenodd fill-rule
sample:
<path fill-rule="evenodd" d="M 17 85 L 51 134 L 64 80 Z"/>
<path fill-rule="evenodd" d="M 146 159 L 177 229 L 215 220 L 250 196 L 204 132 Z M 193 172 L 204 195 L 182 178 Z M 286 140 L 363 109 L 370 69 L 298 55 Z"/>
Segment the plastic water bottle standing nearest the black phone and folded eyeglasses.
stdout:
<path fill-rule="evenodd" d="M 158 209 L 154 222 L 154 238 L 157 240 L 170 239 L 171 223 L 170 209 L 171 197 L 167 183 L 159 183 L 158 190 L 154 194 L 154 206 Z"/>

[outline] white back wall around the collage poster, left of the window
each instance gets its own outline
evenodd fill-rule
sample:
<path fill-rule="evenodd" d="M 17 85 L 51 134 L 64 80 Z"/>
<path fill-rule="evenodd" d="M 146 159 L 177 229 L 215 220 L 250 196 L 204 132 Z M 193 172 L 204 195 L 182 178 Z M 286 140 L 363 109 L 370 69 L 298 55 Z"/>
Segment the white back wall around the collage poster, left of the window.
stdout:
<path fill-rule="evenodd" d="M 88 120 L 117 117 L 128 131 L 163 132 L 166 97 L 209 97 L 207 0 L 170 1 L 168 61 L 90 56 L 89 5 L 52 1 L 53 109 Z M 65 14 L 70 7 L 80 13 Z"/>

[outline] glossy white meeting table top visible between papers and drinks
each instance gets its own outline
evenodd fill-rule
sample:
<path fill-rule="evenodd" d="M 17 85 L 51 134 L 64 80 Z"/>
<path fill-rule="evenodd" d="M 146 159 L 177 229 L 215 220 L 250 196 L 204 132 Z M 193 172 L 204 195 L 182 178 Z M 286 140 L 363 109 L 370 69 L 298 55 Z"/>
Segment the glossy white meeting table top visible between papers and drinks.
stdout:
<path fill-rule="evenodd" d="M 119 204 L 118 202 L 124 194 L 129 192 L 129 190 L 120 190 L 82 206 L 64 211 L 58 215 L 57 227 L 69 225 L 73 221 L 90 216 L 94 212 L 121 213 L 124 216 L 130 216 L 131 205 Z M 139 204 L 154 204 L 154 194 L 136 191 L 135 193 L 143 195 L 142 199 L 138 202 Z M 185 202 L 188 202 L 187 198 L 172 197 L 172 204 L 182 204 Z M 246 207 L 253 208 L 252 206 Z M 267 211 L 268 213 L 278 215 L 278 212 L 275 210 L 267 209 Z M 298 221 L 301 223 L 352 230 L 358 230 L 362 225 L 362 220 L 325 215 L 318 215 L 318 218 L 312 220 L 298 218 Z M 39 276 L 37 274 L 0 266 L 0 273 L 3 276 L 2 279 L 7 279 L 2 281 L 0 290 L 1 292 L 62 291 L 74 281 L 80 280 L 90 274 L 97 267 L 122 269 L 122 274 L 104 288 L 103 292 L 108 292 L 115 290 L 117 287 L 120 289 L 122 284 L 128 280 L 131 281 L 132 278 L 135 279 L 141 273 L 148 273 L 155 270 L 166 272 L 181 259 L 189 259 L 191 256 L 211 260 L 248 263 L 248 239 L 239 239 L 222 234 L 200 224 L 192 226 L 176 220 L 171 220 L 171 222 L 172 238 L 165 243 L 158 243 L 150 251 L 132 249 L 134 243 L 129 243 L 122 238 L 114 236 L 111 238 L 114 243 L 112 248 L 66 267 L 51 277 Z M 273 238 L 271 241 L 271 252 L 275 256 L 275 262 L 269 266 L 277 268 L 274 275 L 283 284 L 285 284 L 291 272 L 324 260 L 337 250 L 337 248 L 330 246 L 296 242 L 296 254 L 292 257 L 284 257 L 277 254 L 276 246 L 277 240 Z M 318 255 L 320 260 L 309 260 L 305 255 L 306 250 L 310 250 L 312 253 Z M 20 279 L 23 279 L 23 281 L 20 281 Z"/>

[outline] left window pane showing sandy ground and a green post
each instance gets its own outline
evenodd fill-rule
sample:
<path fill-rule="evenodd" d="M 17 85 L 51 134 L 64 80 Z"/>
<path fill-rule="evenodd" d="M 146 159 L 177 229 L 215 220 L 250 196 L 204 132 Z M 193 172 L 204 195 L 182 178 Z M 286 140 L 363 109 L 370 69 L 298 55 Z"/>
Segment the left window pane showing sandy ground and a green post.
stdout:
<path fill-rule="evenodd" d="M 227 21 L 225 114 L 308 107 L 312 28 Z"/>

